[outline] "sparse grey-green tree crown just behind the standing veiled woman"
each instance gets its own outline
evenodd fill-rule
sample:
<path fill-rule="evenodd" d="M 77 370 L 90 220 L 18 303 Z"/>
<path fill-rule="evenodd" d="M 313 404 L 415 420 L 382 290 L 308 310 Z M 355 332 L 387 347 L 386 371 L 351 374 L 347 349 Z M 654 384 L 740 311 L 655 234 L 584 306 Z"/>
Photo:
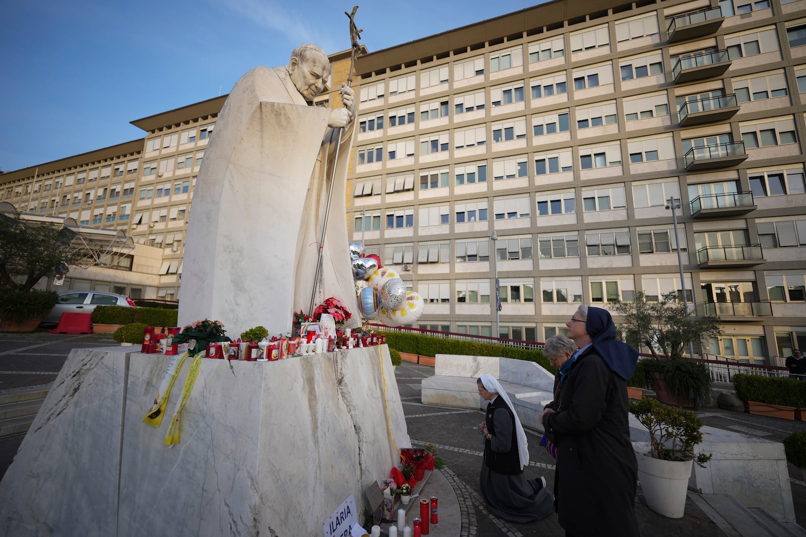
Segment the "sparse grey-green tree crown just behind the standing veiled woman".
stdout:
<path fill-rule="evenodd" d="M 647 302 L 643 291 L 638 291 L 633 302 L 617 301 L 612 308 L 623 319 L 618 327 L 625 333 L 626 342 L 639 351 L 648 348 L 655 358 L 659 358 L 655 349 L 662 349 L 672 359 L 683 357 L 689 341 L 699 345 L 722 333 L 719 317 L 688 315 L 677 293 L 663 295 L 659 302 Z"/>

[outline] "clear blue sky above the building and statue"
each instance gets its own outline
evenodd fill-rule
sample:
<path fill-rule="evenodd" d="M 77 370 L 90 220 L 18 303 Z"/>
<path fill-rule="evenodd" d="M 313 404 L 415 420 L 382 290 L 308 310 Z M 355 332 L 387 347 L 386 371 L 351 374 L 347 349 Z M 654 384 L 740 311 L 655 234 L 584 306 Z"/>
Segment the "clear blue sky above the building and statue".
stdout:
<path fill-rule="evenodd" d="M 370 51 L 542 3 L 408 0 L 359 4 Z M 228 93 L 301 43 L 350 46 L 353 3 L 275 0 L 0 2 L 0 169 L 142 138 L 132 120 Z M 402 6 L 405 9 L 401 11 Z"/>

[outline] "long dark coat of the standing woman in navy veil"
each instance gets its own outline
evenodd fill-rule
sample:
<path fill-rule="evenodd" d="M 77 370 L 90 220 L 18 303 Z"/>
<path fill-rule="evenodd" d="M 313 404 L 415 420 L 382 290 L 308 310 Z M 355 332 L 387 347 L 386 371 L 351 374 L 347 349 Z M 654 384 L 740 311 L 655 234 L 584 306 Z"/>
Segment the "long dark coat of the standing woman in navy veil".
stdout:
<path fill-rule="evenodd" d="M 543 416 L 555 436 L 559 524 L 573 535 L 638 535 L 638 463 L 629 440 L 627 382 L 591 346 L 571 366 Z"/>

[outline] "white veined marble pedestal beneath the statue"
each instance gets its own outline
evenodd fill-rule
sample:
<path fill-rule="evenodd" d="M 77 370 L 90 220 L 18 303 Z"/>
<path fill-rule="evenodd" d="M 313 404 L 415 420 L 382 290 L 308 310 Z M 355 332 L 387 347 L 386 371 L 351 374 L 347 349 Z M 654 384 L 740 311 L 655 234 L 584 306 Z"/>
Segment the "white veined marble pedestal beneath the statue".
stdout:
<path fill-rule="evenodd" d="M 74 349 L 0 482 L 0 535 L 322 535 L 410 445 L 388 348 L 260 363 L 202 359 L 163 444 L 142 423 L 168 360 Z M 383 370 L 381 361 L 383 360 Z M 359 515 L 360 516 L 360 515 Z"/>

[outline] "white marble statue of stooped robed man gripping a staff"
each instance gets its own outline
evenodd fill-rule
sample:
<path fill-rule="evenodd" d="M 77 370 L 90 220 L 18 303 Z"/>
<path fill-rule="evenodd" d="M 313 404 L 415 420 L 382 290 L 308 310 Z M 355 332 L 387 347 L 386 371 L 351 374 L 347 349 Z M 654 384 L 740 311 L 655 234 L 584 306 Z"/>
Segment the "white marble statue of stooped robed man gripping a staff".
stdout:
<path fill-rule="evenodd" d="M 325 52 L 306 44 L 285 67 L 247 72 L 227 97 L 193 190 L 180 326 L 208 318 L 233 339 L 258 325 L 289 333 L 294 311 L 310 314 L 322 225 L 314 307 L 334 296 L 353 313 L 344 326 L 359 326 L 345 218 L 355 94 L 342 85 L 343 108 L 314 106 L 329 76 Z"/>

